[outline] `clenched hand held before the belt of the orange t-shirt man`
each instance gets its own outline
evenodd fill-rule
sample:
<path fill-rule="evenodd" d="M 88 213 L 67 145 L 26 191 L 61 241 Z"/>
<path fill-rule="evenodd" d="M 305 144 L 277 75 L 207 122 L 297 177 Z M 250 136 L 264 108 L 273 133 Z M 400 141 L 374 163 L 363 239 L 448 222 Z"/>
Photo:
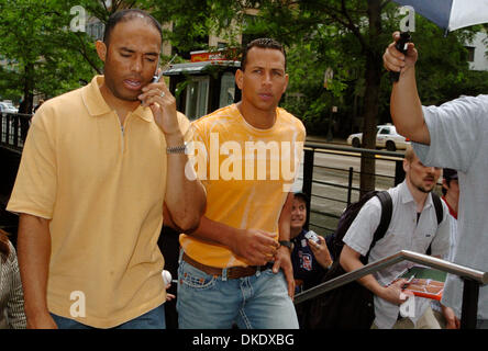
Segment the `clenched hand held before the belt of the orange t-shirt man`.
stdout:
<path fill-rule="evenodd" d="M 264 265 L 271 261 L 278 248 L 275 235 L 260 229 L 239 229 L 230 244 L 232 252 L 252 265 Z"/>

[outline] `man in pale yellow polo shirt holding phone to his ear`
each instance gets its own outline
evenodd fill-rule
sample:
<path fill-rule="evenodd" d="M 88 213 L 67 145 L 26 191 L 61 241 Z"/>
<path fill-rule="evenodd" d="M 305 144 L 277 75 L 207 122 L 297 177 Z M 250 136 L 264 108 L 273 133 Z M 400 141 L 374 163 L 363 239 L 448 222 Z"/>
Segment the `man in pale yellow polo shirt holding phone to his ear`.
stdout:
<path fill-rule="evenodd" d="M 190 230 L 206 194 L 185 176 L 189 122 L 151 83 L 160 45 L 152 16 L 114 13 L 97 42 L 104 76 L 32 120 L 8 205 L 20 214 L 27 327 L 165 327 L 163 212 Z"/>

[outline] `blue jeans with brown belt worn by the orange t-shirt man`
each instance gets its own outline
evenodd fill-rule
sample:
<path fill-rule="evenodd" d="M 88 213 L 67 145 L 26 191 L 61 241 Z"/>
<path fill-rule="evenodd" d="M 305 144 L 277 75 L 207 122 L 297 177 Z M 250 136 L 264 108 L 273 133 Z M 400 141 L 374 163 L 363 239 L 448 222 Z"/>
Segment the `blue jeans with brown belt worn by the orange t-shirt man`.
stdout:
<path fill-rule="evenodd" d="M 180 329 L 298 329 L 285 275 L 270 269 L 224 280 L 181 260 L 176 308 Z"/>

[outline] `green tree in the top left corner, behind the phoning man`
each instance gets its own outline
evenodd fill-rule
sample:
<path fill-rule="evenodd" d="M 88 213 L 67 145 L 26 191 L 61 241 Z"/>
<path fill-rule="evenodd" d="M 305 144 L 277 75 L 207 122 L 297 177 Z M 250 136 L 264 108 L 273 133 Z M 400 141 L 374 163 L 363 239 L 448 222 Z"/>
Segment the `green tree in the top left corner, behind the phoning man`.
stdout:
<path fill-rule="evenodd" d="M 34 93 L 65 92 L 92 75 L 70 49 L 79 34 L 69 31 L 69 1 L 0 0 L 0 53 L 12 64 L 0 87 L 23 97 L 20 112 L 32 111 Z"/>

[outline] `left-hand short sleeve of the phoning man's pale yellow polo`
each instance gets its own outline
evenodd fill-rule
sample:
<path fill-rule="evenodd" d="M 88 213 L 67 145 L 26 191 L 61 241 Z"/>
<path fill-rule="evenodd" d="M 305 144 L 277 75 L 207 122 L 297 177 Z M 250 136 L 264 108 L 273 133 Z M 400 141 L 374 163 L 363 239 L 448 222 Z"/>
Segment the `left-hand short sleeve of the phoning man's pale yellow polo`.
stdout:
<path fill-rule="evenodd" d="M 56 199 L 57 166 L 54 133 L 47 125 L 49 109 L 32 118 L 18 176 L 7 210 L 51 219 Z"/>

